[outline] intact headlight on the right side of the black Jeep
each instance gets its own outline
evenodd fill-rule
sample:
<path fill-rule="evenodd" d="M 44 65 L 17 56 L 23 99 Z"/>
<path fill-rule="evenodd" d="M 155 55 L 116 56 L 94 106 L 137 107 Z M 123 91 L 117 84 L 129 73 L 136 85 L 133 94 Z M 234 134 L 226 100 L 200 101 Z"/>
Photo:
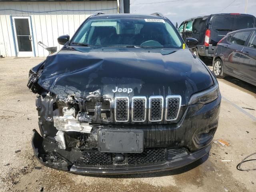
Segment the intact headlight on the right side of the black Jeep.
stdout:
<path fill-rule="evenodd" d="M 218 84 L 216 84 L 207 90 L 193 94 L 190 97 L 188 104 L 189 105 L 193 105 L 193 104 L 205 105 L 216 100 L 219 94 L 220 94 L 219 86 Z"/>

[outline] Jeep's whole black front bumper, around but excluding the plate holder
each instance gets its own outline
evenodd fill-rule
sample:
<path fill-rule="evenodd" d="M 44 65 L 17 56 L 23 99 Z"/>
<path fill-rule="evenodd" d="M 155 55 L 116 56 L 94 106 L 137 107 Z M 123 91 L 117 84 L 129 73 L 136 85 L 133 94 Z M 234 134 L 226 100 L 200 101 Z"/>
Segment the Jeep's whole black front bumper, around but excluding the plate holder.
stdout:
<path fill-rule="evenodd" d="M 221 96 L 206 105 L 195 104 L 188 106 L 184 116 L 177 124 L 154 126 L 100 125 L 98 127 L 99 130 L 111 128 L 143 130 L 145 151 L 162 148 L 168 154 L 167 151 L 169 149 L 183 148 L 185 152 L 175 156 L 175 158 L 168 158 L 166 156 L 164 160 L 144 161 L 143 164 L 136 162 L 135 164 L 126 163 L 120 165 L 114 164 L 114 161 L 107 165 L 98 162 L 96 164 L 86 164 L 86 160 L 88 160 L 86 159 L 88 157 L 87 154 L 91 153 L 90 150 L 60 149 L 54 137 L 46 136 L 43 138 L 36 130 L 33 130 L 32 147 L 35 157 L 45 166 L 81 174 L 129 174 L 180 168 L 200 159 L 210 151 L 211 141 L 218 127 L 220 101 Z M 97 134 L 94 136 L 97 137 Z M 95 146 L 97 146 L 97 141 L 95 142 Z M 86 158 L 84 153 L 87 155 Z M 114 157 L 113 154 L 111 153 L 110 156 Z M 126 155 L 129 156 L 129 154 Z M 83 163 L 79 162 L 81 159 Z"/>

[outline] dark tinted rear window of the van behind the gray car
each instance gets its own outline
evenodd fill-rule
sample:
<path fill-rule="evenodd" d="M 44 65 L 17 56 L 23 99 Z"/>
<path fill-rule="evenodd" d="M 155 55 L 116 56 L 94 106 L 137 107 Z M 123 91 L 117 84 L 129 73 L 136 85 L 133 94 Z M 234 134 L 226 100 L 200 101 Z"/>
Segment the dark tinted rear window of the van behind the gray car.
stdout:
<path fill-rule="evenodd" d="M 252 16 L 215 16 L 212 24 L 217 31 L 234 31 L 244 28 L 254 27 L 254 17 Z"/>

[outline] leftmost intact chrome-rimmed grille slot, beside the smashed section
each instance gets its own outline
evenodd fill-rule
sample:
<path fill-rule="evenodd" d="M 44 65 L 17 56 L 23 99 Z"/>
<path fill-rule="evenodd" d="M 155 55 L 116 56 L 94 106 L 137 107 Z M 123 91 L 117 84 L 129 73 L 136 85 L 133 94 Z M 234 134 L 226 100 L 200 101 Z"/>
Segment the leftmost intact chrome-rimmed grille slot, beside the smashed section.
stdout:
<path fill-rule="evenodd" d="M 129 121 L 129 98 L 116 97 L 115 98 L 115 120 L 116 122 Z"/>

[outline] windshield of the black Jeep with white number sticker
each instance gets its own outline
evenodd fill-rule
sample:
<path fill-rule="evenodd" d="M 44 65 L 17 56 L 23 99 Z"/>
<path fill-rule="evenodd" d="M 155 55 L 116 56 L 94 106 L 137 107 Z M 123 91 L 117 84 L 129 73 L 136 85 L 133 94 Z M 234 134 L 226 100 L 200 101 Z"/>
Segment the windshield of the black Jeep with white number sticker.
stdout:
<path fill-rule="evenodd" d="M 72 44 L 182 48 L 176 29 L 167 20 L 147 18 L 89 19 Z"/>

